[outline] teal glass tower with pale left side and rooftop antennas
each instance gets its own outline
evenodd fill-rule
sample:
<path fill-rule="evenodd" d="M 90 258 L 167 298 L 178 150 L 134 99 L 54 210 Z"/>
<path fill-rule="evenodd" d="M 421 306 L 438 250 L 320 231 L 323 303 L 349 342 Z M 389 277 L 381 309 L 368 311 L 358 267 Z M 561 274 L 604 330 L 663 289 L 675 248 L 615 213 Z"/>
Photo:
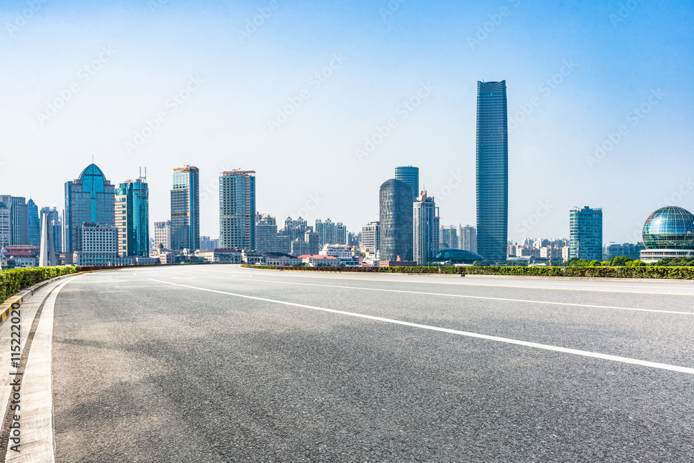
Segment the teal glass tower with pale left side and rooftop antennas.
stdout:
<path fill-rule="evenodd" d="M 149 187 L 146 177 L 126 180 L 116 190 L 118 253 L 149 256 Z"/>

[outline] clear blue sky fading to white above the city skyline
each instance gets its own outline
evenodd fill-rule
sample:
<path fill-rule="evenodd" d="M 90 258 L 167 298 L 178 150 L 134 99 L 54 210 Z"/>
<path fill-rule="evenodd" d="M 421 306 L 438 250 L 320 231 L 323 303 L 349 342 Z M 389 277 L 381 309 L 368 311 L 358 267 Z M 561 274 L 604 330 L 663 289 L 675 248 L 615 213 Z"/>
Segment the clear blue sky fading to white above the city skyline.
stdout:
<path fill-rule="evenodd" d="M 157 221 L 171 169 L 196 165 L 217 237 L 217 174 L 241 167 L 261 212 L 358 231 L 393 167 L 416 165 L 441 223 L 474 224 L 476 83 L 505 79 L 509 237 L 566 236 L 590 205 L 605 242 L 633 241 L 659 205 L 694 210 L 694 7 L 600 3 L 6 0 L 0 192 L 62 208 L 94 155 L 113 183 L 147 167 Z"/>

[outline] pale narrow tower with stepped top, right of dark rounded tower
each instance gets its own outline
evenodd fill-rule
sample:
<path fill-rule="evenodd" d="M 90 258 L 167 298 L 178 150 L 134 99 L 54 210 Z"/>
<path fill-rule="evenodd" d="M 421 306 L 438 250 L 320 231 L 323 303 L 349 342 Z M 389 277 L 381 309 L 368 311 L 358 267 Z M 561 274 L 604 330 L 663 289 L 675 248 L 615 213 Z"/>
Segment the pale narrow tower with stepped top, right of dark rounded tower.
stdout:
<path fill-rule="evenodd" d="M 414 260 L 417 264 L 432 262 L 439 251 L 439 208 L 425 190 L 414 201 L 413 209 Z"/>

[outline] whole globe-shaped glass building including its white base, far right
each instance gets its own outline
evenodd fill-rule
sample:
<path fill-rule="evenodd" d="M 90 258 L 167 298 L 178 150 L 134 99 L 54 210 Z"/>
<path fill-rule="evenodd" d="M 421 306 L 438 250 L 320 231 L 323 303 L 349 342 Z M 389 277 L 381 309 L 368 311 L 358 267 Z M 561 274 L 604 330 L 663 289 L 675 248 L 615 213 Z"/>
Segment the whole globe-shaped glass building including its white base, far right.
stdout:
<path fill-rule="evenodd" d="M 653 212 L 643 224 L 643 262 L 665 258 L 694 258 L 694 214 L 668 205 Z"/>

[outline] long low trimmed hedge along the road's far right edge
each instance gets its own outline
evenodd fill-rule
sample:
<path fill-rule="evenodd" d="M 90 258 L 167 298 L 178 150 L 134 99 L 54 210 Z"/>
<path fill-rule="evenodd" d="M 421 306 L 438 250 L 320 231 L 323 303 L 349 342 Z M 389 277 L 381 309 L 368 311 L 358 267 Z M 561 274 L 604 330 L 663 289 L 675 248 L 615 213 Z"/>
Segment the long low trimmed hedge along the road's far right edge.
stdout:
<path fill-rule="evenodd" d="M 668 278 L 694 280 L 694 267 L 275 267 L 246 265 L 249 269 L 298 271 L 353 271 L 379 273 L 448 273 L 455 275 L 580 276 L 586 278 Z"/>

